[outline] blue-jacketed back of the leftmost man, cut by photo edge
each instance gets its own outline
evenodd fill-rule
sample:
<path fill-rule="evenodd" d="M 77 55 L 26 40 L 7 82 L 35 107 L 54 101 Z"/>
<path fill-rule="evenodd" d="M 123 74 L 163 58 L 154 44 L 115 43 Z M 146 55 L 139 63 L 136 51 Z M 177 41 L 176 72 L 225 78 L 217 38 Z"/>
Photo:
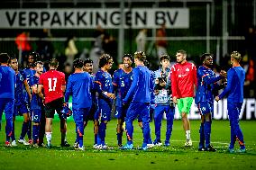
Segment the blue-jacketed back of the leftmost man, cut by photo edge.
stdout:
<path fill-rule="evenodd" d="M 14 99 L 15 72 L 13 68 L 0 66 L 0 98 Z"/>

